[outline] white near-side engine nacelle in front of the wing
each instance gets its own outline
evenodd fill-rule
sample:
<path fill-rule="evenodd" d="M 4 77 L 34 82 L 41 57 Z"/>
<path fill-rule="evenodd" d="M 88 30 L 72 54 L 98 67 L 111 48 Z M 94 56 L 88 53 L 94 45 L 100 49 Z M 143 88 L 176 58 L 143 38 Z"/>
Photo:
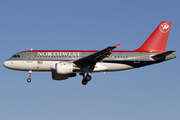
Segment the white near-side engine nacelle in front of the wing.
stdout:
<path fill-rule="evenodd" d="M 57 74 L 70 74 L 73 73 L 73 63 L 56 63 L 55 65 Z"/>

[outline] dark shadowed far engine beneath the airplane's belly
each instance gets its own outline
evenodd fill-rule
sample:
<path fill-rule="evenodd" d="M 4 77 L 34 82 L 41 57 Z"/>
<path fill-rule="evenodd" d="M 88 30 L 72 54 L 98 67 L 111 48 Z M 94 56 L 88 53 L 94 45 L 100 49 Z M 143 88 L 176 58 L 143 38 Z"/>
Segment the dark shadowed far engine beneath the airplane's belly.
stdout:
<path fill-rule="evenodd" d="M 53 80 L 65 80 L 68 79 L 69 77 L 75 77 L 76 73 L 71 73 L 71 74 L 58 74 L 56 71 L 52 71 L 52 78 Z"/>

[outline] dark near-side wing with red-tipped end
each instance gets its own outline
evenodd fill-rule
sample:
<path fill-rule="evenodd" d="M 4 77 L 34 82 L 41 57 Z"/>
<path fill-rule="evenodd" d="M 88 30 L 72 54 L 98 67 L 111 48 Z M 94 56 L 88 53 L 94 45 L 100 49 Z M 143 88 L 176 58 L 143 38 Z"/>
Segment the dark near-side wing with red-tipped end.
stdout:
<path fill-rule="evenodd" d="M 109 56 L 111 54 L 110 51 L 112 51 L 113 49 L 115 49 L 115 48 L 119 49 L 119 45 L 120 44 L 117 44 L 115 46 L 109 46 L 103 50 L 96 52 L 96 53 L 93 53 L 86 57 L 75 60 L 75 61 L 73 61 L 73 63 L 75 63 L 80 68 L 87 67 L 87 68 L 94 69 L 94 66 L 97 62 L 99 62 L 102 59 L 104 59 L 105 57 Z"/>

